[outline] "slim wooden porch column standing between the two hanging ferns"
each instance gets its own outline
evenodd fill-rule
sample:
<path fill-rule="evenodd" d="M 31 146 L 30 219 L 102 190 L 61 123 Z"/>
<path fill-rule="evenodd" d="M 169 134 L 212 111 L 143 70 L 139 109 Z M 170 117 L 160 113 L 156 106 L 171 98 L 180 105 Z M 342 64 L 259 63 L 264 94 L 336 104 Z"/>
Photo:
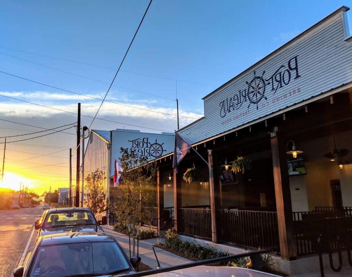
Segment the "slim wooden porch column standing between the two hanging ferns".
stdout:
<path fill-rule="evenodd" d="M 209 196 L 210 196 L 210 216 L 212 220 L 212 242 L 218 243 L 218 230 L 216 222 L 216 211 L 220 208 L 220 184 L 218 172 L 214 172 L 214 162 L 212 150 L 208 150 L 209 163 Z M 217 163 L 215 163 L 217 165 Z M 216 167 L 215 167 L 216 168 Z"/>

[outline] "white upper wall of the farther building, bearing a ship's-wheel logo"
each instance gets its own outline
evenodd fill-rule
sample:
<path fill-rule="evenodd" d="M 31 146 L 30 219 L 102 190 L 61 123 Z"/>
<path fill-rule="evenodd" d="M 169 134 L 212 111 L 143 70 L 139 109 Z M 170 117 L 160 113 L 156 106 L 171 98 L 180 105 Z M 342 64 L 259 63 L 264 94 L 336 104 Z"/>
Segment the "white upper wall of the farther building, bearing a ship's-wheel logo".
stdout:
<path fill-rule="evenodd" d="M 174 151 L 174 133 L 142 133 L 137 130 L 113 130 L 111 143 L 111 176 L 114 174 L 114 159 L 121 157 L 121 147 L 138 157 L 150 160 Z"/>

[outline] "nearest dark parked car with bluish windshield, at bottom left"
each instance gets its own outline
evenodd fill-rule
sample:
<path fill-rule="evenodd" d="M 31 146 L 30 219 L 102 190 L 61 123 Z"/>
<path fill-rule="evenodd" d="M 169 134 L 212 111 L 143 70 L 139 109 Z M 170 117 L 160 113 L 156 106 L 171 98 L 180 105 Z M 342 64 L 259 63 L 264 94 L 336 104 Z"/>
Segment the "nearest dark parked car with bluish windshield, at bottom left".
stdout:
<path fill-rule="evenodd" d="M 107 233 L 56 233 L 40 237 L 13 276 L 118 276 L 135 273 L 139 263 Z"/>

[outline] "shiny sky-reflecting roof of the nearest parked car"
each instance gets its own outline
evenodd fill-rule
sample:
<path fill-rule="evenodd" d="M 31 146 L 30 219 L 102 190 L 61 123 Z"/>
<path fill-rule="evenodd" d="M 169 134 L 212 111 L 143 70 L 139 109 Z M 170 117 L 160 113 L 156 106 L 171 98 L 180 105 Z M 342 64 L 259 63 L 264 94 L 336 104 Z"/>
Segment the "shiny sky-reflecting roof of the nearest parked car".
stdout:
<path fill-rule="evenodd" d="M 40 246 L 83 242 L 115 242 L 115 240 L 109 234 L 102 232 L 55 233 L 43 236 Z"/>

